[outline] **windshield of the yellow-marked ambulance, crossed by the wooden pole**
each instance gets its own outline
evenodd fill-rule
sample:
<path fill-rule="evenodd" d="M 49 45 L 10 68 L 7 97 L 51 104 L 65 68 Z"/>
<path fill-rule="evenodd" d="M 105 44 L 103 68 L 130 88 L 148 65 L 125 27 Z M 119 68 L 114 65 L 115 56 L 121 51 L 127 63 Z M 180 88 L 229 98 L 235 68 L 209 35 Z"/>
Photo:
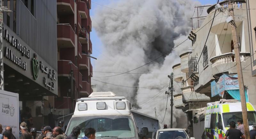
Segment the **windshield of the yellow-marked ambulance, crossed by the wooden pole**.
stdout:
<path fill-rule="evenodd" d="M 223 113 L 223 120 L 225 127 L 229 127 L 229 122 L 234 121 L 237 125 L 238 120 L 243 121 L 242 112 L 232 112 L 232 113 Z M 253 125 L 256 121 L 256 113 L 248 112 L 248 122 L 249 125 Z"/>

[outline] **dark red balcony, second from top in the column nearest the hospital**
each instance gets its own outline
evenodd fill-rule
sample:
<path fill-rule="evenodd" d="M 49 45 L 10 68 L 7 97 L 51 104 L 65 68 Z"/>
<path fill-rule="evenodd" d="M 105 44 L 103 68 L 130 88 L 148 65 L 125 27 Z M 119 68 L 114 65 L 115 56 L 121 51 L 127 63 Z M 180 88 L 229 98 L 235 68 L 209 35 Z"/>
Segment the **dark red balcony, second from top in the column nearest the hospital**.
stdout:
<path fill-rule="evenodd" d="M 75 48 L 75 32 L 69 24 L 57 24 L 59 48 Z"/>

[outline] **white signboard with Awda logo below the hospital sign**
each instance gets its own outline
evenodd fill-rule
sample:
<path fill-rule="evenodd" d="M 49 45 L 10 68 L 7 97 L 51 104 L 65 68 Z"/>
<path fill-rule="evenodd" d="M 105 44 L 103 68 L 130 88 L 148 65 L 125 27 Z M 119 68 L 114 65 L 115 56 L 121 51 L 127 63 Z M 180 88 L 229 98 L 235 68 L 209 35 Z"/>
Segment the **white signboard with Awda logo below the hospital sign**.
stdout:
<path fill-rule="evenodd" d="M 12 134 L 19 138 L 19 94 L 0 90 L 0 124 L 12 128 Z"/>

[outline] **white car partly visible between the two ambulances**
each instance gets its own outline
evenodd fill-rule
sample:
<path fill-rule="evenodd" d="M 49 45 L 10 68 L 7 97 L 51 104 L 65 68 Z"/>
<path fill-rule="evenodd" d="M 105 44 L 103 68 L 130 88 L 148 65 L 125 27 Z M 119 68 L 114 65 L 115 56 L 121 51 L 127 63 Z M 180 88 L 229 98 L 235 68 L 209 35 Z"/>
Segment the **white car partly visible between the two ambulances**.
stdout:
<path fill-rule="evenodd" d="M 188 134 L 181 128 L 158 129 L 154 139 L 189 139 Z M 190 139 L 195 139 L 191 137 Z"/>

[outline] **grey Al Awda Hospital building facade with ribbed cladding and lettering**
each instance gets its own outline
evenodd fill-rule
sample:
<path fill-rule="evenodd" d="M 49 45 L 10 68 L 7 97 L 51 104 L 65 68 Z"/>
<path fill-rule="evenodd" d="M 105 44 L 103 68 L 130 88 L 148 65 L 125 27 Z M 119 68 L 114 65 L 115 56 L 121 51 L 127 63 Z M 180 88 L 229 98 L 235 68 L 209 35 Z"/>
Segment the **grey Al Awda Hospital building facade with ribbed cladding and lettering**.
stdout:
<path fill-rule="evenodd" d="M 56 1 L 2 0 L 2 6 L 12 11 L 3 12 L 4 90 L 19 93 L 20 120 L 29 117 L 39 128 L 58 95 Z"/>

